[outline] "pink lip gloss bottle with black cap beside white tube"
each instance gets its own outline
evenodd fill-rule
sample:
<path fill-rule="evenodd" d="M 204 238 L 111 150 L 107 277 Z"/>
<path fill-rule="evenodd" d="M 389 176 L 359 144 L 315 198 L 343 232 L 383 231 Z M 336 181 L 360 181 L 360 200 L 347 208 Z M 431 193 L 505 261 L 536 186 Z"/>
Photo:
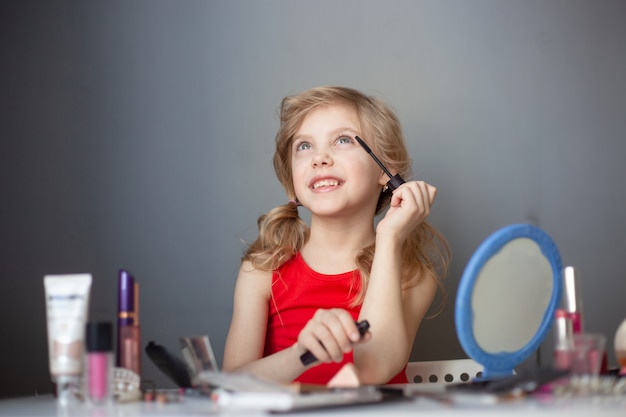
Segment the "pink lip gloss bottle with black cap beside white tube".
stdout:
<path fill-rule="evenodd" d="M 87 340 L 87 394 L 92 404 L 112 401 L 113 325 L 110 322 L 90 322 Z"/>

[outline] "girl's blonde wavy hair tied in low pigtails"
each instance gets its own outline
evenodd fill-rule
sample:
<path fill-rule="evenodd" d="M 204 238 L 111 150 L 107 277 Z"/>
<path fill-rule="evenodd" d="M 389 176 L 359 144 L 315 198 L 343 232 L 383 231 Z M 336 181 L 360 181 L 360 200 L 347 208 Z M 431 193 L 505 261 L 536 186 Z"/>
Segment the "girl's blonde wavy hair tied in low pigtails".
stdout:
<path fill-rule="evenodd" d="M 304 118 L 319 107 L 348 105 L 355 109 L 363 138 L 381 162 L 403 178 L 411 177 L 412 160 L 409 158 L 400 122 L 393 110 L 381 100 L 366 96 L 346 87 L 318 87 L 300 94 L 285 97 L 280 105 L 280 127 L 276 134 L 274 170 L 289 202 L 278 206 L 258 219 L 259 234 L 248 246 L 243 260 L 250 261 L 259 270 L 274 271 L 291 259 L 304 245 L 309 229 L 298 216 L 296 196 L 291 171 L 291 149 L 295 133 Z M 379 215 L 389 207 L 391 193 L 384 190 L 376 207 Z M 361 282 L 352 305 L 363 301 L 374 257 L 375 244 L 362 248 L 356 258 Z M 409 235 L 402 247 L 402 286 L 416 285 L 426 272 L 431 272 L 441 291 L 441 307 L 446 291 L 441 280 L 445 277 L 450 260 L 450 248 L 445 238 L 427 222 L 422 222 Z"/>

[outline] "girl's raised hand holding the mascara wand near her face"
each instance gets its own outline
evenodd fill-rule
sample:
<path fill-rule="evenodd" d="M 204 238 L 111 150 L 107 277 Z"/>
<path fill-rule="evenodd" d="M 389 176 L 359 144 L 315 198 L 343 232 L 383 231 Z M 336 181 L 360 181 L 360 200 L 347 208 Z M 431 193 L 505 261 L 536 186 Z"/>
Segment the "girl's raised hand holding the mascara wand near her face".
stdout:
<path fill-rule="evenodd" d="M 424 181 L 402 184 L 393 191 L 389 210 L 376 228 L 377 234 L 389 234 L 404 241 L 428 217 L 436 195 L 437 188 Z"/>

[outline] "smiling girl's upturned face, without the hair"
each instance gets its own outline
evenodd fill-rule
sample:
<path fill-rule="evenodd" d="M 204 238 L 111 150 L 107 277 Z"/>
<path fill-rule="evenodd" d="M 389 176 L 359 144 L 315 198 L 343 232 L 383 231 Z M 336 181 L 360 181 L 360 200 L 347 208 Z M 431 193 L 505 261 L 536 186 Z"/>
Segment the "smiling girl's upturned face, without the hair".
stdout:
<path fill-rule="evenodd" d="M 375 209 L 388 178 L 354 139 L 360 135 L 356 111 L 347 105 L 311 111 L 296 131 L 291 147 L 294 189 L 313 214 Z"/>

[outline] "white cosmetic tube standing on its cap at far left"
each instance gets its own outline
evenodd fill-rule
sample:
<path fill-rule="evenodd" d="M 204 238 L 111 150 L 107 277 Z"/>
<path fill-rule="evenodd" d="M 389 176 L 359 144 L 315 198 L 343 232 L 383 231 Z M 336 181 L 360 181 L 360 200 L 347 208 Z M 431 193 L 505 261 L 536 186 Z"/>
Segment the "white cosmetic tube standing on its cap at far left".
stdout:
<path fill-rule="evenodd" d="M 91 274 L 44 277 L 50 375 L 62 404 L 71 402 L 80 386 L 91 281 Z"/>

